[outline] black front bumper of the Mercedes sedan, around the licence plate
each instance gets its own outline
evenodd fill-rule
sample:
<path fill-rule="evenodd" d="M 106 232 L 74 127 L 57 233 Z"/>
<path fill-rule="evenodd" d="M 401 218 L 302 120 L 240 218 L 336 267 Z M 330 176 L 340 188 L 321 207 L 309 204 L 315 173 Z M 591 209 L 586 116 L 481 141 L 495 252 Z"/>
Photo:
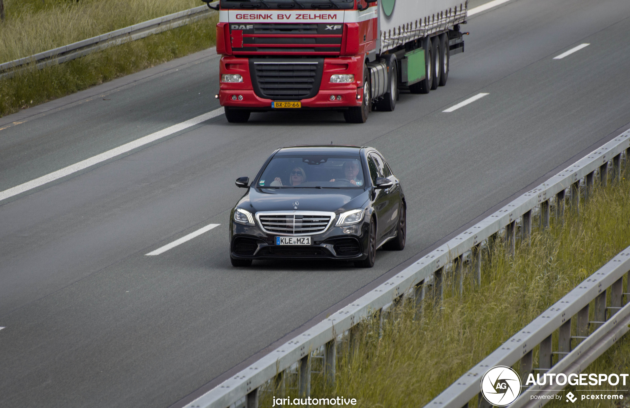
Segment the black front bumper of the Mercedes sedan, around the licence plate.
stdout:
<path fill-rule="evenodd" d="M 331 226 L 311 235 L 311 245 L 276 245 L 278 234 L 268 234 L 257 225 L 230 222 L 230 256 L 234 259 L 338 259 L 360 261 L 367 258 L 369 223 L 350 227 Z"/>

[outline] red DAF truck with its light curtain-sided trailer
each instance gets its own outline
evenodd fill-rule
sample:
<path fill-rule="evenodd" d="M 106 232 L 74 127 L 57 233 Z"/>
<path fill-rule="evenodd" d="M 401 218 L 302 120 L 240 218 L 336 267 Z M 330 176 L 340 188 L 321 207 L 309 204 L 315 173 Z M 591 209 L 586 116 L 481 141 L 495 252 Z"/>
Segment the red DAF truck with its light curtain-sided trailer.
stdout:
<path fill-rule="evenodd" d="M 467 0 L 220 0 L 217 54 L 228 122 L 253 111 L 392 111 L 401 89 L 444 86 L 464 52 Z"/>

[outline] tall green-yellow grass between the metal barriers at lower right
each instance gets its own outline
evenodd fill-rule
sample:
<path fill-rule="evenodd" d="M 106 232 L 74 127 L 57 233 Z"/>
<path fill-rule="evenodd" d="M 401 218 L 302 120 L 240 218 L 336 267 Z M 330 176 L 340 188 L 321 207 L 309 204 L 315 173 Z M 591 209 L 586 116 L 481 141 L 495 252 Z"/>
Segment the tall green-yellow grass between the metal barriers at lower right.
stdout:
<path fill-rule="evenodd" d="M 555 221 L 552 219 L 550 230 L 535 230 L 530 246 L 517 242 L 513 257 L 501 245 L 486 248 L 481 288 L 473 288 L 471 274 L 467 274 L 460 297 L 447 279 L 444 302 L 427 298 L 420 318 L 415 319 L 413 302 L 407 302 L 392 312 L 382 329 L 377 319 L 360 324 L 352 346 L 342 342 L 338 348 L 335 387 L 316 373 L 311 395 L 343 395 L 357 399 L 358 407 L 370 408 L 427 404 L 630 245 L 630 183 L 624 179 L 618 187 L 597 188 L 579 214 L 568 208 L 564 223 Z M 575 331 L 575 322 L 573 326 Z M 595 361 L 595 368 L 584 372 L 609 369 L 627 373 L 627 337 Z M 554 349 L 557 342 L 556 331 Z M 537 353 L 538 347 L 534 349 L 535 367 Z M 319 371 L 321 363 L 312 361 Z M 263 393 L 261 405 L 271 405 L 271 394 L 295 394 L 289 385 L 285 387 L 288 393 Z M 476 405 L 476 399 L 471 401 L 471 407 Z"/>

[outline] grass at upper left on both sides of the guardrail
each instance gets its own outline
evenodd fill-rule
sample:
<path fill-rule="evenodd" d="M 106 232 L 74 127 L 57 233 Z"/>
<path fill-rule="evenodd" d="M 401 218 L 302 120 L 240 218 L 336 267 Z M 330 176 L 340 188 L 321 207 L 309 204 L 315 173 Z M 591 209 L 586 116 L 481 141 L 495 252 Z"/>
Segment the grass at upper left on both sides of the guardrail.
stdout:
<path fill-rule="evenodd" d="M 202 5 L 193 0 L 8 0 L 0 62 Z M 55 20 L 56 19 L 56 20 Z M 0 116 L 213 47 L 218 16 L 0 79 Z"/>

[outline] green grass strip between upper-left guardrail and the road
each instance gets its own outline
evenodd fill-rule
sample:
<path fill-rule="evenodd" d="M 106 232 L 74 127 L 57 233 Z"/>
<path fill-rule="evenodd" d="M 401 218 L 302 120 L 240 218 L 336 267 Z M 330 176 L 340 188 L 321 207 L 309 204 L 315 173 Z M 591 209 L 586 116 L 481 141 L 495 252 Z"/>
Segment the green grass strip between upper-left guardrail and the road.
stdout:
<path fill-rule="evenodd" d="M 213 47 L 218 16 L 0 80 L 0 116 Z"/>

